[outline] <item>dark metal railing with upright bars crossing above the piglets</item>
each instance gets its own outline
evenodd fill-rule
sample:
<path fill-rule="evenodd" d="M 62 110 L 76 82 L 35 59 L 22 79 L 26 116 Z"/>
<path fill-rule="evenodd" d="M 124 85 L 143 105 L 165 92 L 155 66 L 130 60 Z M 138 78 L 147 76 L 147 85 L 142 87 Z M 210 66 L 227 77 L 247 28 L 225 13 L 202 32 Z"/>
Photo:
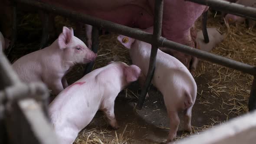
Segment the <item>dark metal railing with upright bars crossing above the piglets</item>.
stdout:
<path fill-rule="evenodd" d="M 203 5 L 210 6 L 216 10 L 222 10 L 228 13 L 232 13 L 238 16 L 244 16 L 253 20 L 256 20 L 256 9 L 252 7 L 245 7 L 240 4 L 236 3 L 230 3 L 223 0 L 188 0 L 194 3 L 200 3 Z M 28 4 L 33 7 L 37 7 L 40 10 L 45 10 L 47 13 L 56 13 L 62 16 L 66 16 L 69 18 L 77 19 L 81 23 L 86 23 L 89 25 L 92 25 L 96 28 L 104 28 L 109 31 L 119 33 L 121 35 L 125 35 L 128 37 L 132 37 L 141 41 L 144 41 L 146 43 L 150 43 L 152 46 L 151 49 L 151 57 L 150 57 L 150 64 L 148 68 L 148 75 L 146 77 L 146 81 L 144 83 L 144 86 L 142 88 L 141 96 L 139 97 L 137 108 L 141 109 L 146 93 L 148 91 L 149 85 L 151 83 L 151 79 L 154 74 L 155 69 L 155 61 L 156 61 L 156 55 L 157 55 L 157 49 L 158 47 L 166 47 L 169 49 L 174 49 L 179 52 L 184 52 L 186 54 L 189 54 L 191 56 L 196 56 L 199 59 L 206 60 L 208 62 L 213 62 L 219 65 L 226 66 L 231 69 L 236 69 L 244 73 L 248 73 L 250 75 L 255 76 L 256 75 L 256 68 L 252 65 L 247 65 L 242 62 L 237 62 L 232 59 L 227 59 L 222 56 L 217 56 L 215 54 L 204 52 L 199 49 L 194 49 L 190 46 L 185 46 L 180 43 L 175 43 L 171 40 L 167 40 L 166 38 L 161 36 L 161 27 L 162 27 L 162 15 L 163 15 L 163 0 L 156 0 L 155 7 L 154 7 L 154 32 L 153 34 L 143 32 L 138 29 L 134 29 L 128 26 L 123 26 L 117 23 L 113 23 L 107 20 L 101 20 L 99 18 L 95 18 L 86 14 L 77 13 L 75 11 L 66 10 L 60 7 L 56 7 L 53 5 L 49 5 L 47 3 L 42 3 L 40 1 L 36 0 L 14 0 L 14 6 L 15 3 L 24 3 Z M 14 9 L 15 11 L 16 9 Z M 16 13 L 16 12 L 13 12 Z M 204 13 L 206 16 L 207 13 Z M 16 15 L 15 15 L 16 16 Z M 16 19 L 16 18 L 13 18 Z M 16 22 L 16 20 L 15 20 Z M 203 21 L 202 23 L 206 24 L 206 21 Z M 45 24 L 47 25 L 47 24 Z M 13 29 L 16 29 L 16 24 L 13 25 Z M 206 28 L 203 28 L 206 29 Z M 203 30 L 204 31 L 204 30 Z M 16 32 L 13 32 L 16 33 Z M 14 38 L 16 37 L 13 35 Z M 96 37 L 95 37 L 96 36 Z M 204 33 L 205 42 L 207 43 L 207 32 Z M 92 39 L 97 39 L 98 34 L 94 34 Z M 209 39 L 208 39 L 209 40 Z M 45 41 L 45 40 L 44 40 Z M 13 42 L 14 44 L 14 42 Z M 13 45 L 11 45 L 13 47 Z M 95 51 L 94 47 L 98 47 L 97 43 L 94 43 L 94 46 L 92 46 L 92 50 Z M 92 67 L 92 65 L 90 66 Z M 86 73 L 90 71 L 90 68 L 87 70 Z M 253 86 L 251 88 L 250 98 L 249 98 L 249 111 L 252 109 L 256 109 L 256 82 L 254 78 Z"/>

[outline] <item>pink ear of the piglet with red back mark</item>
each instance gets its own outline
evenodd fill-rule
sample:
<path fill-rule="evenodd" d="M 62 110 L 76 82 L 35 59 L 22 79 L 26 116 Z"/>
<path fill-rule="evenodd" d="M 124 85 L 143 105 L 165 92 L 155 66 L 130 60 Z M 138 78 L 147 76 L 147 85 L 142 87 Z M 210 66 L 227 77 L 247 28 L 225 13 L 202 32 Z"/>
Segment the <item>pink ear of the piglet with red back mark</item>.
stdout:
<path fill-rule="evenodd" d="M 125 76 L 126 76 L 126 81 L 128 83 L 137 81 L 140 75 L 141 75 L 141 69 L 136 65 L 130 65 L 125 68 Z"/>

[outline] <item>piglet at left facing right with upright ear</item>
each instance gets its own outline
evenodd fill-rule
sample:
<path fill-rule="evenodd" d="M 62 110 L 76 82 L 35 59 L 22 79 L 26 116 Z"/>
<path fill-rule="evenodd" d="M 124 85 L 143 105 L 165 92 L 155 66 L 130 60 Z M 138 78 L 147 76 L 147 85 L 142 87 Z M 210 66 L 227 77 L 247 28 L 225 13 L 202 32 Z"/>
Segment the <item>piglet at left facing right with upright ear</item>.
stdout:
<path fill-rule="evenodd" d="M 64 75 L 72 66 L 86 64 L 96 57 L 97 54 L 74 36 L 72 28 L 64 26 L 52 45 L 21 57 L 13 63 L 13 69 L 23 82 L 44 82 L 58 95 L 68 87 Z"/>

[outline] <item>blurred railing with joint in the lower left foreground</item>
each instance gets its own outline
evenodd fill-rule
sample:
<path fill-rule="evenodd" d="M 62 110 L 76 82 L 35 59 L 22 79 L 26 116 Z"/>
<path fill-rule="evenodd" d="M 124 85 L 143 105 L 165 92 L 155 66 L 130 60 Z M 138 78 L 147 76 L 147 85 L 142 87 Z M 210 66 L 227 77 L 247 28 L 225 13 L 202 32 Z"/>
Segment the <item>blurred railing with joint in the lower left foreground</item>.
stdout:
<path fill-rule="evenodd" d="M 43 83 L 22 83 L 0 52 L 0 144 L 56 144 L 48 96 Z"/>

